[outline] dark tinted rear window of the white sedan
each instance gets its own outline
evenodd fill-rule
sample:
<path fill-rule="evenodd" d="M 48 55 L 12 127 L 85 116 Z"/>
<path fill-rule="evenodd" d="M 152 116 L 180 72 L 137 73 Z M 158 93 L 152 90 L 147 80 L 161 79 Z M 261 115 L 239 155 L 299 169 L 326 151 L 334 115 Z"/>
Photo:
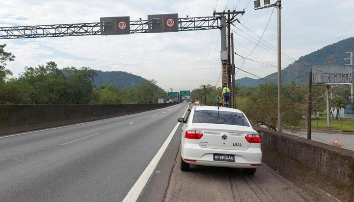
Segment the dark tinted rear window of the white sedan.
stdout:
<path fill-rule="evenodd" d="M 228 125 L 250 126 L 242 113 L 215 110 L 196 110 L 193 123 L 215 123 Z"/>

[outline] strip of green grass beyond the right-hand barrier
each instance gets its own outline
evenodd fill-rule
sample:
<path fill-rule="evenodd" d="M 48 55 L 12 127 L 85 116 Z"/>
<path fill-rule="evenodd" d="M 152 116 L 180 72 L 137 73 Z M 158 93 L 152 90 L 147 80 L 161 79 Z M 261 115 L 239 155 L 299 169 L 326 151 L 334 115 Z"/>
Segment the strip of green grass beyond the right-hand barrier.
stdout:
<path fill-rule="evenodd" d="M 312 128 L 325 128 L 327 127 L 327 120 L 324 117 L 320 117 L 319 120 L 312 120 Z M 337 128 L 339 130 L 354 130 L 354 120 L 353 119 L 331 119 L 331 127 Z"/>

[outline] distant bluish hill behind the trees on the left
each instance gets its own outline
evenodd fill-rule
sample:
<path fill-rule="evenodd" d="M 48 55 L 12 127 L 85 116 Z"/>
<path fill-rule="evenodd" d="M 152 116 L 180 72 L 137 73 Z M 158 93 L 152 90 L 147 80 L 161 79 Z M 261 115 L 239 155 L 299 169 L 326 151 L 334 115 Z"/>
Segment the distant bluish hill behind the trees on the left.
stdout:
<path fill-rule="evenodd" d="M 118 88 L 133 87 L 146 80 L 143 77 L 122 71 L 103 72 L 95 70 L 95 72 L 97 76 L 93 80 L 93 84 L 96 87 L 107 84 L 116 85 Z"/>

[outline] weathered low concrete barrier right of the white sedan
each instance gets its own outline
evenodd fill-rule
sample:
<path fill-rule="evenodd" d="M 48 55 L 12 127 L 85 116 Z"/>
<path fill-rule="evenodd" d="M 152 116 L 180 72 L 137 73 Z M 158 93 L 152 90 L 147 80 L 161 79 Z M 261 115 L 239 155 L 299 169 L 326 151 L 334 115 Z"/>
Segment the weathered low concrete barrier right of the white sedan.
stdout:
<path fill-rule="evenodd" d="M 262 149 L 275 151 L 312 168 L 321 175 L 354 187 L 353 151 L 260 127 L 253 128 L 261 135 Z M 262 161 L 272 166 L 272 161 L 277 159 L 263 155 Z"/>

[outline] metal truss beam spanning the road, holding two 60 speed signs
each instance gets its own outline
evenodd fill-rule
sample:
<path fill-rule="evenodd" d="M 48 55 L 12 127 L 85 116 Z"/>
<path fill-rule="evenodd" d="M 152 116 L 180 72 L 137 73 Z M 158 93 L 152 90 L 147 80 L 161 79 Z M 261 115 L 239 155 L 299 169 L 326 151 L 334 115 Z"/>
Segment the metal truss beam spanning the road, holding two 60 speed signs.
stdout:
<path fill-rule="evenodd" d="M 207 30 L 222 28 L 221 17 L 179 18 L 179 31 Z M 130 21 L 130 33 L 148 33 L 148 21 Z M 71 37 L 101 35 L 99 22 L 77 24 L 52 24 L 39 26 L 0 27 L 0 39 Z"/>

